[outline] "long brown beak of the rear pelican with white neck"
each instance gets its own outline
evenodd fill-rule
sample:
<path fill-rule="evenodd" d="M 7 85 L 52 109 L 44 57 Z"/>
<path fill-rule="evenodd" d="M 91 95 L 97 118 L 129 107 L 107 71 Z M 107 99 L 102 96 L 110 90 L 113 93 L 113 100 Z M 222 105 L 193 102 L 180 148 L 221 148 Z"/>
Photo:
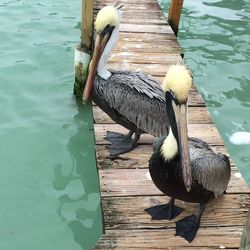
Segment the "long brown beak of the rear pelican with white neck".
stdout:
<path fill-rule="evenodd" d="M 92 61 L 89 65 L 89 73 L 86 81 L 86 85 L 83 91 L 82 100 L 83 103 L 87 103 L 89 96 L 91 95 L 91 91 L 93 89 L 95 75 L 97 66 L 99 63 L 99 60 L 101 58 L 101 55 L 103 53 L 103 50 L 109 41 L 110 38 L 110 32 L 107 32 L 104 36 L 97 34 L 96 35 L 96 41 L 95 41 L 95 49 Z"/>

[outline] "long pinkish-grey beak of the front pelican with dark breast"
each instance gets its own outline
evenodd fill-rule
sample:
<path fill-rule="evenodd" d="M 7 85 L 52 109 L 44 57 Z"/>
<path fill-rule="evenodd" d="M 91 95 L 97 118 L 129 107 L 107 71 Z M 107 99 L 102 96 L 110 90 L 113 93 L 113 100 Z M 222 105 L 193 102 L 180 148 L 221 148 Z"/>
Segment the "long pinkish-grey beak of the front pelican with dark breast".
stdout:
<path fill-rule="evenodd" d="M 179 139 L 179 150 L 182 164 L 182 178 L 184 185 L 189 192 L 192 185 L 191 161 L 189 154 L 188 133 L 187 133 L 187 104 L 179 107 L 177 129 Z"/>

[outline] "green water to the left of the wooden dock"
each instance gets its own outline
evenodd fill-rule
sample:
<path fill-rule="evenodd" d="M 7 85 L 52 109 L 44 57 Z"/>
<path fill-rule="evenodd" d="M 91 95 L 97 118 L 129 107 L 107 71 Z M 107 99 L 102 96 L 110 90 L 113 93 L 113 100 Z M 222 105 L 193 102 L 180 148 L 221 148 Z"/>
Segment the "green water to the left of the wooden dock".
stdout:
<path fill-rule="evenodd" d="M 0 1 L 0 249 L 90 249 L 96 169 L 72 95 L 81 1 Z M 85 138 L 85 139 L 84 139 Z"/>

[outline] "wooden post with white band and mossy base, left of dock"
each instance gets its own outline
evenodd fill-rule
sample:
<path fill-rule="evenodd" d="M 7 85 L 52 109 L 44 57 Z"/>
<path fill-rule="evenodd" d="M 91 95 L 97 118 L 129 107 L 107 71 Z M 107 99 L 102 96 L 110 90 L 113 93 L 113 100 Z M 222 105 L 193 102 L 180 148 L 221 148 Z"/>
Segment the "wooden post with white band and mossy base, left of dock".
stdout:
<path fill-rule="evenodd" d="M 82 0 L 81 42 L 75 48 L 74 94 L 82 97 L 92 50 L 93 0 Z"/>

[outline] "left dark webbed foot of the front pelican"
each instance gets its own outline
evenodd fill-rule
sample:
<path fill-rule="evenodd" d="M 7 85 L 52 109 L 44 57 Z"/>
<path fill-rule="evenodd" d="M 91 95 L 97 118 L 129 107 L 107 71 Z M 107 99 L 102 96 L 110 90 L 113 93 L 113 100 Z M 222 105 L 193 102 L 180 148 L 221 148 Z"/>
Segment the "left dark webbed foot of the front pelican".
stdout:
<path fill-rule="evenodd" d="M 174 198 L 171 198 L 167 204 L 158 205 L 144 209 L 152 216 L 153 220 L 172 220 L 177 217 L 183 209 L 175 206 Z"/>

